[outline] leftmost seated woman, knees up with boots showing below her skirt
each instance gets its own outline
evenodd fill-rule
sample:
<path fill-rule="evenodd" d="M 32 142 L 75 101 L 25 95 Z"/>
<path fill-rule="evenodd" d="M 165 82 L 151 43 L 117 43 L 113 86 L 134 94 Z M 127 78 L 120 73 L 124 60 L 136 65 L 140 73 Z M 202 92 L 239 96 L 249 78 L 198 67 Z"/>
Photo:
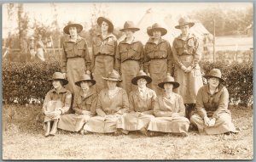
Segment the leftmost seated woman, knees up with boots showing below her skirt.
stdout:
<path fill-rule="evenodd" d="M 63 87 L 67 85 L 68 81 L 60 72 L 55 72 L 49 81 L 52 82 L 54 88 L 47 92 L 43 104 L 44 124 L 46 125 L 45 137 L 55 136 L 60 116 L 70 108 L 72 98 L 71 92 Z M 53 124 L 50 130 L 51 123 Z"/>

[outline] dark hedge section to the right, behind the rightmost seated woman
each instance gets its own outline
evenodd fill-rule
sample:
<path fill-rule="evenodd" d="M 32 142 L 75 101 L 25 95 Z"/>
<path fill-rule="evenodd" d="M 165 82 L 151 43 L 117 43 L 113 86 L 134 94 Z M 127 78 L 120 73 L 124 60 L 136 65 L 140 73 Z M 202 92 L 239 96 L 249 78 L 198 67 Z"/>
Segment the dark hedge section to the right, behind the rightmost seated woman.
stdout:
<path fill-rule="evenodd" d="M 201 62 L 204 74 L 208 74 L 213 68 L 221 70 L 225 79 L 224 84 L 230 92 L 230 102 L 239 101 L 243 106 L 253 102 L 253 62 L 247 64 L 237 62 L 226 64 L 224 61 Z"/>

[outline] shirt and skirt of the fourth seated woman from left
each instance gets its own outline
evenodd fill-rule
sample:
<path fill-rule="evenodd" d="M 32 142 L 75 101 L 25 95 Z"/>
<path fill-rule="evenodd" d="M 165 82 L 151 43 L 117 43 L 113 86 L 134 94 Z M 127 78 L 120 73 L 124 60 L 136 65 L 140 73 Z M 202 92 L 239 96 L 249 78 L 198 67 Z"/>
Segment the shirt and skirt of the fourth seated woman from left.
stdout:
<path fill-rule="evenodd" d="M 138 131 L 145 128 L 148 129 L 149 121 L 154 118 L 153 105 L 156 94 L 153 90 L 146 88 L 145 97 L 137 90 L 129 94 L 131 113 L 122 115 L 117 123 L 117 128 L 127 131 Z"/>

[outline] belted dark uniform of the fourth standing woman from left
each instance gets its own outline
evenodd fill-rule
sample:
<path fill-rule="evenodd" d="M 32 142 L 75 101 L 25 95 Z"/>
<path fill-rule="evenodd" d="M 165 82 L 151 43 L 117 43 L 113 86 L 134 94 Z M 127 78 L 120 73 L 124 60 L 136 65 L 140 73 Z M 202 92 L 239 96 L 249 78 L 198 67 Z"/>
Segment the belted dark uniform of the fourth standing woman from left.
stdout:
<path fill-rule="evenodd" d="M 158 44 L 149 38 L 145 45 L 145 72 L 150 74 L 152 82 L 149 87 L 160 95 L 163 91 L 157 85 L 162 82 L 166 73 L 172 74 L 172 48 L 170 43 L 161 39 Z"/>

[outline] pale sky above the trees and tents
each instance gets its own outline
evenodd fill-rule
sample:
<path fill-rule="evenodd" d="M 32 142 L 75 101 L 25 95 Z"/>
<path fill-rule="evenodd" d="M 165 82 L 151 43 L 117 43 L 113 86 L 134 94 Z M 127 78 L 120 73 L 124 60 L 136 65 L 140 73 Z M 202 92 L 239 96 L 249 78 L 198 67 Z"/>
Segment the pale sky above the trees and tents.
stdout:
<path fill-rule="evenodd" d="M 69 20 L 83 25 L 85 22 L 90 24 L 93 3 L 55 4 L 58 22 L 61 28 L 63 28 Z M 126 20 L 132 20 L 137 24 L 137 22 L 143 18 L 148 8 L 152 8 L 152 10 L 158 14 L 171 14 L 172 18 L 177 20 L 180 15 L 189 14 L 198 9 L 210 8 L 212 6 L 244 9 L 253 6 L 253 3 L 96 3 L 96 5 L 102 5 L 102 9 L 108 13 L 108 18 L 113 21 L 114 26 L 122 27 Z M 31 20 L 36 19 L 44 23 L 44 25 L 49 25 L 53 21 L 53 15 L 55 14 L 50 3 L 24 3 L 24 11 Z M 3 37 L 6 37 L 9 31 L 15 31 L 17 21 L 8 20 L 6 4 L 3 4 L 2 15 Z"/>

